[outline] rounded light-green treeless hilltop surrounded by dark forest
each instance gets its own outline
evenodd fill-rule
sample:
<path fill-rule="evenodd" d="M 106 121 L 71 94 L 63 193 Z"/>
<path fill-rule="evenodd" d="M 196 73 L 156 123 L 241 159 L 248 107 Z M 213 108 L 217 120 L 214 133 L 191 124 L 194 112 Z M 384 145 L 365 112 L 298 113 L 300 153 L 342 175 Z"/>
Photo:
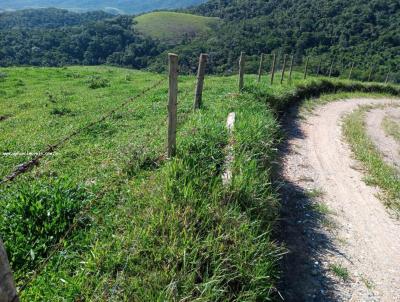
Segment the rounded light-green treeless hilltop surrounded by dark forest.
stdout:
<path fill-rule="evenodd" d="M 139 32 L 167 44 L 203 36 L 218 23 L 217 18 L 175 12 L 154 12 L 138 16 L 135 20 Z"/>

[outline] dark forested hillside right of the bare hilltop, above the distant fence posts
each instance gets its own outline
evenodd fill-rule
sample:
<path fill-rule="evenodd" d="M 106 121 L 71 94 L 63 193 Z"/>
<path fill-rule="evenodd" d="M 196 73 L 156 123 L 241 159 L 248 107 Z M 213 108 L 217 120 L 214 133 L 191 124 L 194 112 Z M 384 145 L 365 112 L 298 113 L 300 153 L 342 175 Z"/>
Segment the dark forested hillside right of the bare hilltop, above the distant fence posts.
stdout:
<path fill-rule="evenodd" d="M 208 51 L 218 71 L 230 68 L 240 51 L 294 53 L 297 60 L 312 54 L 393 71 L 400 63 L 398 0 L 211 0 L 191 12 L 226 22 L 206 41 L 176 51 Z"/>

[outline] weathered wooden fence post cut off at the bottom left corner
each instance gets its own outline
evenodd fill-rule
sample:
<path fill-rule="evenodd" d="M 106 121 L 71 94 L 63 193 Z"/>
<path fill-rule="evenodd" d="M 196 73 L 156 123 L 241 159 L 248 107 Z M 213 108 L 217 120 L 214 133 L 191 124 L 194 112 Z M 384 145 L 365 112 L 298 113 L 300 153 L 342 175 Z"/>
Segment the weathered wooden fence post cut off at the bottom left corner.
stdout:
<path fill-rule="evenodd" d="M 0 238 L 0 301 L 18 302 L 19 298 L 13 280 L 10 264 L 3 241 Z"/>

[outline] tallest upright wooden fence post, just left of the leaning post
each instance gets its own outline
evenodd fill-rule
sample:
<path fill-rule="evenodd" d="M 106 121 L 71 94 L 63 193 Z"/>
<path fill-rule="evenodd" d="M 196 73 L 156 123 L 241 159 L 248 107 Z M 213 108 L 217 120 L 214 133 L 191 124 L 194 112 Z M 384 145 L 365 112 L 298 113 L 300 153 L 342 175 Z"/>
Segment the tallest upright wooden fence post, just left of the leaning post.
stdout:
<path fill-rule="evenodd" d="M 178 56 L 168 54 L 169 59 L 169 100 L 168 100 L 168 158 L 176 154 L 176 124 L 178 103 Z"/>

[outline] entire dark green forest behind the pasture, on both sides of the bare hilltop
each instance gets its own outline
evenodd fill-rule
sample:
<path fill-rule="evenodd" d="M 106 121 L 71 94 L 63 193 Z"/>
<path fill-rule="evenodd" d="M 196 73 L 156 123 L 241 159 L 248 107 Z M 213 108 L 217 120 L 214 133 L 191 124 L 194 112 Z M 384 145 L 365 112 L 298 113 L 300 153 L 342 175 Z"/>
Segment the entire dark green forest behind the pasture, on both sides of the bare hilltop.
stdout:
<path fill-rule="evenodd" d="M 241 51 L 257 69 L 260 53 L 294 54 L 299 66 L 311 56 L 338 75 L 354 62 L 356 77 L 373 67 L 375 79 L 399 82 L 398 0 L 210 0 L 184 10 L 219 17 L 212 34 L 175 46 L 145 37 L 132 17 L 101 12 L 26 10 L 0 14 L 0 65 L 116 64 L 165 69 L 167 51 L 179 53 L 181 70 L 193 72 L 200 52 L 210 54 L 209 72 L 230 73 Z"/>

